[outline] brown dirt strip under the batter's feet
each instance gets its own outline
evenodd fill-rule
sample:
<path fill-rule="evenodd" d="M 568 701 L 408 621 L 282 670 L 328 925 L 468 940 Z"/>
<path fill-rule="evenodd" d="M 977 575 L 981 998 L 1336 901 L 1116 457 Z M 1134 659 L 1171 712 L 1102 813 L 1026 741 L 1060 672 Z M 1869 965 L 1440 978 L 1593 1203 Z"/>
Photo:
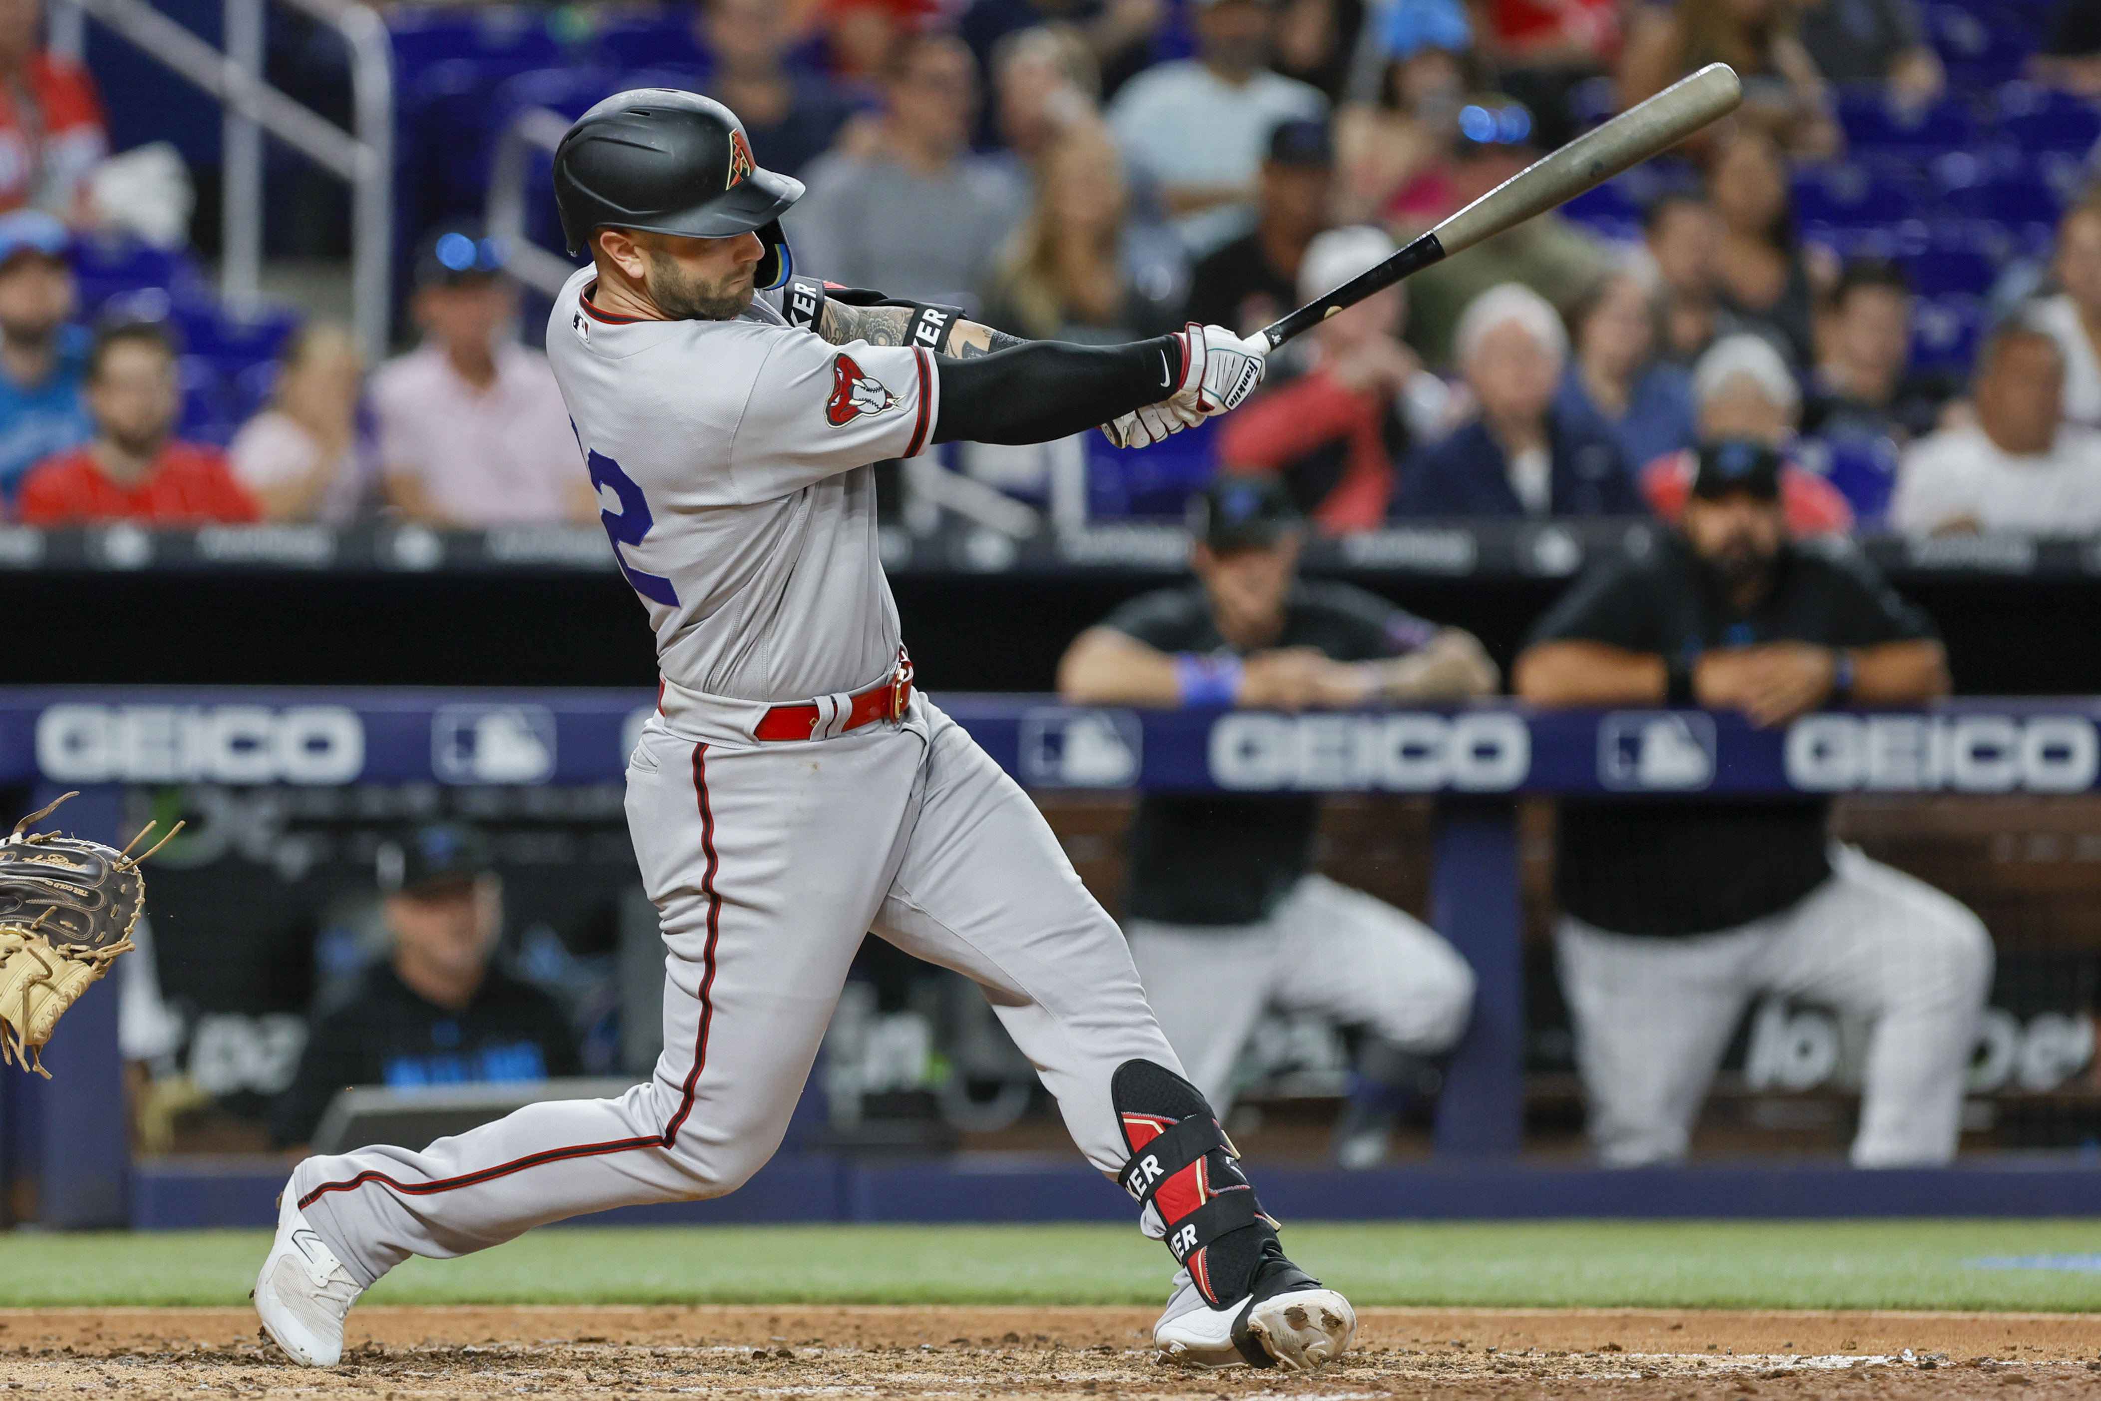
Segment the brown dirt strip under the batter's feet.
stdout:
<path fill-rule="evenodd" d="M 2101 1315 L 1368 1309 L 1315 1376 L 1185 1372 L 1145 1309 L 359 1309 L 292 1367 L 233 1309 L 0 1311 L 0 1390 L 164 1399 L 2095 1397 Z"/>

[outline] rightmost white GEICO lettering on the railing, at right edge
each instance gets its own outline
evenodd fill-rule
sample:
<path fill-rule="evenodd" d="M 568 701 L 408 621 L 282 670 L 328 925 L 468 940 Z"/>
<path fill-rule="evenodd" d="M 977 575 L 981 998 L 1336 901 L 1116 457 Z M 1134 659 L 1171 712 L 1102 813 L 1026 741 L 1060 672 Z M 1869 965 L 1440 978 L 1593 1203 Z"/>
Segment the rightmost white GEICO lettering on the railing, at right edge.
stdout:
<path fill-rule="evenodd" d="M 1788 727 L 1786 758 L 1809 792 L 2080 792 L 2101 744 L 2078 714 L 1813 714 Z"/>

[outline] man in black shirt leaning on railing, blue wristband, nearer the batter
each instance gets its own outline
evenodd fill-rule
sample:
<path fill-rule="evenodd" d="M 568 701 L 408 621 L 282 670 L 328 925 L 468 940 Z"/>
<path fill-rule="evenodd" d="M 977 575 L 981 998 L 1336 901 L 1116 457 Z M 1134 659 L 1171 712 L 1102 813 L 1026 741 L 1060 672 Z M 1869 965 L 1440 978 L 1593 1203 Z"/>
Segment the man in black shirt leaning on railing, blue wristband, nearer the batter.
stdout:
<path fill-rule="evenodd" d="M 1275 477 L 1225 477 L 1193 517 L 1195 582 L 1082 632 L 1059 664 L 1067 702 L 1305 710 L 1496 689 L 1469 632 L 1349 584 L 1298 580 L 1305 519 Z M 1130 830 L 1124 933 L 1168 1044 L 1221 1115 L 1265 1008 L 1349 1027 L 1357 1078 L 1336 1155 L 1370 1168 L 1466 1029 L 1473 970 L 1422 922 L 1319 876 L 1317 825 L 1319 798 L 1307 794 L 1147 794 Z"/>

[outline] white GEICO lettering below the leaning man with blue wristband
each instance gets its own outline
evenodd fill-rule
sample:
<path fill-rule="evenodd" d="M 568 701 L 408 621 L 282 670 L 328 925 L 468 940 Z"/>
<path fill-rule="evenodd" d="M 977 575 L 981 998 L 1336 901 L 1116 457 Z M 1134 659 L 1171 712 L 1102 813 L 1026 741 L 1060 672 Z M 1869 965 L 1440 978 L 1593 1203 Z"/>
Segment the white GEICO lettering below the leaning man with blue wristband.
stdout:
<path fill-rule="evenodd" d="M 1532 773 L 1515 714 L 1227 714 L 1210 727 L 1210 777 L 1237 790 L 1387 788 L 1506 792 Z"/>

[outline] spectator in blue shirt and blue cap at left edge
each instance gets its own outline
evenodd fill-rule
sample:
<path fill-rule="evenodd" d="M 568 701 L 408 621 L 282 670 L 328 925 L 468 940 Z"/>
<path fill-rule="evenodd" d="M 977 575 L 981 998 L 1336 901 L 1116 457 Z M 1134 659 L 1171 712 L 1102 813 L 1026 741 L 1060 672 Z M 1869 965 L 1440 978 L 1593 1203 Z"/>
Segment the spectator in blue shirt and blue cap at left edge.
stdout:
<path fill-rule="evenodd" d="M 65 225 L 42 210 L 0 214 L 0 504 L 32 466 L 95 433 L 65 244 Z"/>

